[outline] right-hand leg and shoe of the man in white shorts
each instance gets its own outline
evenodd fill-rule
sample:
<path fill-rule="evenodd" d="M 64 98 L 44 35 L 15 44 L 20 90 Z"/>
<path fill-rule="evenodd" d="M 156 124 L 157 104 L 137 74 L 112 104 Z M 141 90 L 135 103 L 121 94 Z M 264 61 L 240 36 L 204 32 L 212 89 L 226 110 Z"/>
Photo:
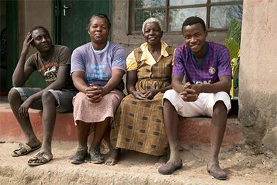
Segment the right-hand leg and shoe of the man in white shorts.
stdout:
<path fill-rule="evenodd" d="M 222 101 L 217 101 L 213 107 L 211 121 L 211 157 L 207 169 L 217 179 L 226 179 L 226 173 L 220 168 L 218 155 L 224 137 L 227 122 L 227 109 Z"/>

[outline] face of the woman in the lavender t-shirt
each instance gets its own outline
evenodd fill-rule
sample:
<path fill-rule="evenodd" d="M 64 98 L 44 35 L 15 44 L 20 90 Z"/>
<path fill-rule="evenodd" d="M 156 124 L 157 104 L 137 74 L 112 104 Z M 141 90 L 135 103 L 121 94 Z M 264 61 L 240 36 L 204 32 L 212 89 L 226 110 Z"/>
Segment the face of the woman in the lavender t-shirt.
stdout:
<path fill-rule="evenodd" d="M 103 44 L 107 42 L 109 36 L 109 26 L 105 19 L 95 17 L 91 20 L 88 30 L 91 42 L 95 44 Z"/>

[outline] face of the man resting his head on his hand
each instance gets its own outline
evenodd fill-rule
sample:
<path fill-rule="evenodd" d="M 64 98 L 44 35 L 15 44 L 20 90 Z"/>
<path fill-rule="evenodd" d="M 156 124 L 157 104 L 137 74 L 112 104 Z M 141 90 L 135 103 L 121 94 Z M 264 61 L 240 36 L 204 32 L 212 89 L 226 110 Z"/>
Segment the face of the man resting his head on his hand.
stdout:
<path fill-rule="evenodd" d="M 52 49 L 52 40 L 47 30 L 37 28 L 32 32 L 33 46 L 39 53 L 47 53 Z"/>

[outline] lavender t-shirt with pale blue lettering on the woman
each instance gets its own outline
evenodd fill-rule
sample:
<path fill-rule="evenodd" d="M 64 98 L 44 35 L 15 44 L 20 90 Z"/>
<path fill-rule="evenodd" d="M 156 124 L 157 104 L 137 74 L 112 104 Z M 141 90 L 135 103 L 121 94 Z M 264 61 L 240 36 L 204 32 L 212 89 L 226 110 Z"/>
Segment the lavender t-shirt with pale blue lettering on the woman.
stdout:
<path fill-rule="evenodd" d="M 75 49 L 71 56 L 71 74 L 74 71 L 84 71 L 87 85 L 104 86 L 111 78 L 112 69 L 125 71 L 125 68 L 125 49 L 114 42 L 107 42 L 101 51 L 95 51 L 89 42 Z"/>

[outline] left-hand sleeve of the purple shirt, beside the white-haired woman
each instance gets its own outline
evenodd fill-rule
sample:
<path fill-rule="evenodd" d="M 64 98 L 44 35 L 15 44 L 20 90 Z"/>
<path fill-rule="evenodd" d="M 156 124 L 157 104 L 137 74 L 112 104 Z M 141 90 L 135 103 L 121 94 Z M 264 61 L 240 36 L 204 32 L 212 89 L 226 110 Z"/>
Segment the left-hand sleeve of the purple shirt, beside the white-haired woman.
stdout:
<path fill-rule="evenodd" d="M 172 76 L 181 76 L 185 75 L 185 67 L 184 60 L 182 58 L 182 50 L 181 48 L 175 49 L 174 57 L 173 57 L 173 68 L 172 68 Z"/>

